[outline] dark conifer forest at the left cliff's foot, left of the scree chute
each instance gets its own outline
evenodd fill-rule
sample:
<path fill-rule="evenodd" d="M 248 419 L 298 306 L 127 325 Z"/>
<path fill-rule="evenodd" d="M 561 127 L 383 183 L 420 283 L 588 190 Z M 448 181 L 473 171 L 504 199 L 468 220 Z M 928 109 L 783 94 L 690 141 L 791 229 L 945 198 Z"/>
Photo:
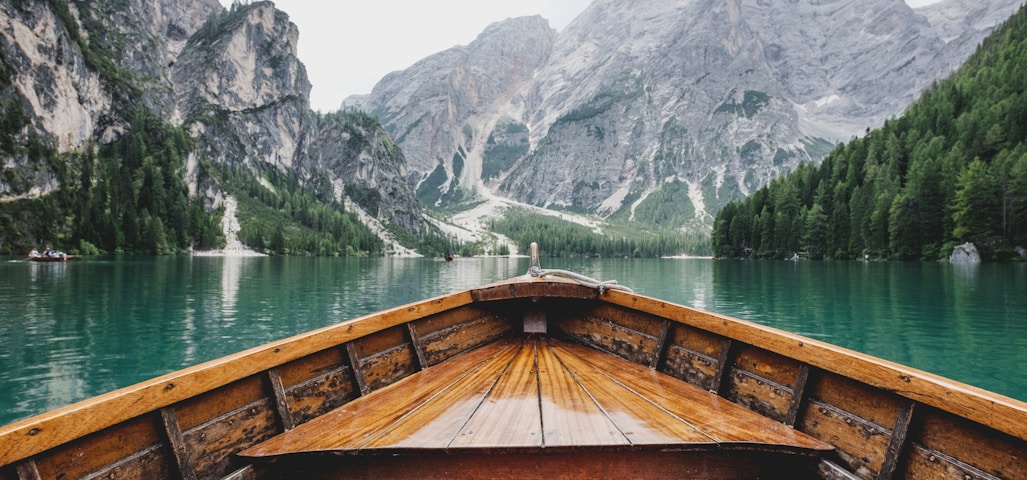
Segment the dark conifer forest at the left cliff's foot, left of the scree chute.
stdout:
<path fill-rule="evenodd" d="M 50 244 L 85 255 L 167 254 L 224 243 L 217 215 L 190 198 L 183 179 L 192 139 L 142 109 L 130 124 L 119 141 L 79 153 L 45 146 L 22 153 L 45 161 L 61 187 L 0 204 L 4 253 Z"/>

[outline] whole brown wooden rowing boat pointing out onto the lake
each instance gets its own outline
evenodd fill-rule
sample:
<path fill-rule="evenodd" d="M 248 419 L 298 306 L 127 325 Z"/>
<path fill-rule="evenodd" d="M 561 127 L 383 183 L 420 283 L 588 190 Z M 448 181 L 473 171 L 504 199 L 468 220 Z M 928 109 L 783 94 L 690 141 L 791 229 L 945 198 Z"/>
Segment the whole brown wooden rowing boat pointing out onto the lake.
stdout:
<path fill-rule="evenodd" d="M 1024 402 L 565 276 L 536 264 L 4 427 L 0 480 L 1027 478 Z"/>

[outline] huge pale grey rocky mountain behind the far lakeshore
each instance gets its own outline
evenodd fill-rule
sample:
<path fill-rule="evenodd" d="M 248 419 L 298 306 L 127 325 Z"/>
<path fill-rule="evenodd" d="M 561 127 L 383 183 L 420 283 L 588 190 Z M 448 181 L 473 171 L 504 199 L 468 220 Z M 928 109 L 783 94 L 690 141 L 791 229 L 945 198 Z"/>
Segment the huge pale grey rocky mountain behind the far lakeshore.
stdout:
<path fill-rule="evenodd" d="M 560 33 L 495 24 L 343 106 L 381 119 L 427 204 L 707 229 L 901 113 L 1019 3 L 597 0 Z"/>

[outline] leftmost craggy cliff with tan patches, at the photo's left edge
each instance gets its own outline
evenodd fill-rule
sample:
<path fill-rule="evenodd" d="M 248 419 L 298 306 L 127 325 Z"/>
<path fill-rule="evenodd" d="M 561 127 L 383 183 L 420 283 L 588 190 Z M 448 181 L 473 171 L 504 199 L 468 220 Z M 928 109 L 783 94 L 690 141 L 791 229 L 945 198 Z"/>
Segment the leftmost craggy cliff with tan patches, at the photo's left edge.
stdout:
<path fill-rule="evenodd" d="M 41 148 L 80 151 L 130 128 L 132 106 L 174 109 L 166 66 L 217 0 L 111 2 L 0 1 L 0 117 L 6 198 L 58 188 Z M 69 27 L 71 26 L 71 27 Z M 132 81 L 130 79 L 139 79 Z"/>

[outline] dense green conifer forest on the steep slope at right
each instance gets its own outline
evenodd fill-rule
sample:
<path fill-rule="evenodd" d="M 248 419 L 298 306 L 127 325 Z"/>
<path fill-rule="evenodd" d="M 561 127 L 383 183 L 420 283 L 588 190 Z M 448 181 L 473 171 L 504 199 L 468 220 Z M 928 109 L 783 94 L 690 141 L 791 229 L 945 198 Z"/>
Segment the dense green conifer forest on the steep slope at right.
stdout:
<path fill-rule="evenodd" d="M 901 117 L 839 145 L 714 226 L 718 257 L 924 259 L 1027 248 L 1027 9 Z"/>

